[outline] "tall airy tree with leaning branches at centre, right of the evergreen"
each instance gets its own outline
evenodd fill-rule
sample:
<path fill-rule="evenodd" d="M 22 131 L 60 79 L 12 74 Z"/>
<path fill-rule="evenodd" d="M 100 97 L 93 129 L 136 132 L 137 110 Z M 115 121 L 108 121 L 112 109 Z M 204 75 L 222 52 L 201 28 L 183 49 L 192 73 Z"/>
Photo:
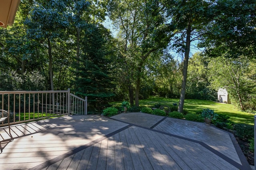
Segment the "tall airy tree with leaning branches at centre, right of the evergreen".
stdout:
<path fill-rule="evenodd" d="M 124 64 L 132 68 L 132 71 L 127 70 L 130 73 L 127 78 L 134 78 L 135 105 L 139 106 L 141 77 L 147 59 L 153 52 L 166 47 L 168 42 L 163 12 L 158 0 L 110 0 L 109 11 L 110 19 L 119 31 L 118 41 L 122 42 L 118 51 Z M 131 86 L 132 81 L 127 82 Z"/>

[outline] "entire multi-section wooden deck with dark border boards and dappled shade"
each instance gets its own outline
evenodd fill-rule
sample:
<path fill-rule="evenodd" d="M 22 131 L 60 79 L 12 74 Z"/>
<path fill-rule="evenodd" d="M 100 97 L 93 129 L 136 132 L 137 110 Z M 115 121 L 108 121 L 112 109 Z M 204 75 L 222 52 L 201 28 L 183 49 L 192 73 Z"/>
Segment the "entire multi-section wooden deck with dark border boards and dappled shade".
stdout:
<path fill-rule="evenodd" d="M 66 116 L 11 129 L 13 141 L 0 129 L 1 170 L 250 168 L 232 134 L 144 113 Z"/>

